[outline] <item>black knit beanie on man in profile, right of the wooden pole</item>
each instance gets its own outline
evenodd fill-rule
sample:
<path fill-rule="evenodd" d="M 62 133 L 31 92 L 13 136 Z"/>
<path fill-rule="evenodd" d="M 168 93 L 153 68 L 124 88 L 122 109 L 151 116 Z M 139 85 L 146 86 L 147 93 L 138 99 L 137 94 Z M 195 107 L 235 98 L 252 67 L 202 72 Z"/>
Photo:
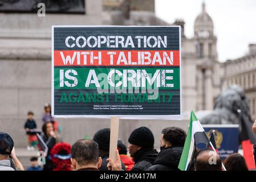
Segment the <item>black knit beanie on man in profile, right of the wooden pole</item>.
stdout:
<path fill-rule="evenodd" d="M 132 131 L 128 142 L 144 148 L 154 148 L 154 135 L 148 127 L 139 127 Z"/>

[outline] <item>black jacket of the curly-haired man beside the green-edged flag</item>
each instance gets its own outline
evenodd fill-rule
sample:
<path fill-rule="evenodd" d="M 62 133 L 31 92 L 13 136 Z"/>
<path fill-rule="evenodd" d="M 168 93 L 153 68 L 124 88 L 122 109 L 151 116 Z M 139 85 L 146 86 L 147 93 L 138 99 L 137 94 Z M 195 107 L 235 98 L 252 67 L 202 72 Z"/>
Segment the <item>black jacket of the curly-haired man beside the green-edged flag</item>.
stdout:
<path fill-rule="evenodd" d="M 156 157 L 153 166 L 147 171 L 179 171 L 178 163 L 180 162 L 183 147 L 168 147 L 162 149 Z"/>

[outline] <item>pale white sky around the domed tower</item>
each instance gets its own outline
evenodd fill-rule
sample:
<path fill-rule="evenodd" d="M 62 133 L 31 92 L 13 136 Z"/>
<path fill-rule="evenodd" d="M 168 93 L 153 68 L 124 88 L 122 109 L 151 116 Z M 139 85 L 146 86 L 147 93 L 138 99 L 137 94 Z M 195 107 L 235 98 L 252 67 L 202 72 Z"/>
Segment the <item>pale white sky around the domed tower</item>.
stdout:
<path fill-rule="evenodd" d="M 155 0 L 156 16 L 168 23 L 184 19 L 185 35 L 192 38 L 203 2 L 213 19 L 218 59 L 223 62 L 246 55 L 248 45 L 256 44 L 255 0 Z"/>

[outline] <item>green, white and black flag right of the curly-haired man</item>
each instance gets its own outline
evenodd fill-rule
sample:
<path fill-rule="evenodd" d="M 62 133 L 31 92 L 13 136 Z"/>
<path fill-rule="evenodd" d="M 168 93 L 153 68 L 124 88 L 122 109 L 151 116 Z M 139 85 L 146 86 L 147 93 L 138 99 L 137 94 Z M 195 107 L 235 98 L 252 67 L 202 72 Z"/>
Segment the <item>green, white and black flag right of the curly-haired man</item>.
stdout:
<path fill-rule="evenodd" d="M 186 136 L 180 163 L 178 164 L 178 168 L 181 171 L 187 171 L 190 168 L 195 156 L 196 146 L 202 143 L 205 144 L 205 148 L 208 148 L 208 145 L 210 144 L 214 150 L 214 147 L 207 137 L 201 123 L 198 121 L 194 112 L 191 111 L 188 135 Z"/>

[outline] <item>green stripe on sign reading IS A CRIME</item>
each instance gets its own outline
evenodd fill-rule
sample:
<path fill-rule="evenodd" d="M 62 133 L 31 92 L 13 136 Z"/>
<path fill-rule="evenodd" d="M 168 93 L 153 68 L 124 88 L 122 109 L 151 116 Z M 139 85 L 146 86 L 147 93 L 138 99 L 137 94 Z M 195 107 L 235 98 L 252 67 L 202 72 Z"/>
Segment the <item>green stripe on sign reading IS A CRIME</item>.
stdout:
<path fill-rule="evenodd" d="M 54 68 L 54 89 L 180 89 L 180 68 Z"/>

